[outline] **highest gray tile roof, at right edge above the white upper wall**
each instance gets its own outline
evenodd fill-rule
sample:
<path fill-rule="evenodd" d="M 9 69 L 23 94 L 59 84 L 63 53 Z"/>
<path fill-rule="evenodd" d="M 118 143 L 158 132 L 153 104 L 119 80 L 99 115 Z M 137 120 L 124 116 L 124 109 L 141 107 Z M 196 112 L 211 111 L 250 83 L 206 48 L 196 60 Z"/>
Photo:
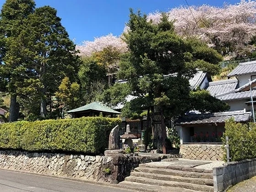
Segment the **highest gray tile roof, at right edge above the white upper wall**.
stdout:
<path fill-rule="evenodd" d="M 256 61 L 240 63 L 227 76 L 228 77 L 234 77 L 236 75 L 244 75 L 244 74 L 251 74 L 251 73 L 256 73 Z"/>

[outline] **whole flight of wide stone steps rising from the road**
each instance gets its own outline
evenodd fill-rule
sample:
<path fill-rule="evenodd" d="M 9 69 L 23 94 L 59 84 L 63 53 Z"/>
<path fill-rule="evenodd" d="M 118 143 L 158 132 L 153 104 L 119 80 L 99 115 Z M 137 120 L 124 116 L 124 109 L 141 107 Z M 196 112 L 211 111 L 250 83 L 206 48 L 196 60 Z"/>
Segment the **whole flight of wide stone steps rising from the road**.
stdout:
<path fill-rule="evenodd" d="M 212 170 L 140 164 L 119 187 L 144 192 L 213 192 Z"/>

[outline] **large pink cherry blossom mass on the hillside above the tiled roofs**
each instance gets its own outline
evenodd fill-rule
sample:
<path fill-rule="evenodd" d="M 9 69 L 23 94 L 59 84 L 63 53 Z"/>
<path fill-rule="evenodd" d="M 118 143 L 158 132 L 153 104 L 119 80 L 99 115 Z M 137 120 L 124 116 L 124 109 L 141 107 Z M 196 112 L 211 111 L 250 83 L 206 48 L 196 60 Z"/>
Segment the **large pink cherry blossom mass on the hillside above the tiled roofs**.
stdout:
<path fill-rule="evenodd" d="M 256 34 L 256 1 L 241 0 L 223 7 L 210 5 L 180 6 L 171 9 L 169 20 L 174 21 L 175 31 L 183 37 L 196 36 L 215 47 L 223 55 L 248 54 L 254 46 L 251 39 Z M 148 20 L 160 21 L 161 13 L 150 13 Z"/>

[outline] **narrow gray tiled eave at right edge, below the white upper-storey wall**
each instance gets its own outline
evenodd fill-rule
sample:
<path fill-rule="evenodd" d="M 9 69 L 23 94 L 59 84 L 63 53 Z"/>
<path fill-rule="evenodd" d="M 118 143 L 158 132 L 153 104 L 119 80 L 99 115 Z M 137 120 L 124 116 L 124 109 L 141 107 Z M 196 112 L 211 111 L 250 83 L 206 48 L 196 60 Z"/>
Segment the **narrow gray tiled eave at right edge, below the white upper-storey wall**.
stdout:
<path fill-rule="evenodd" d="M 246 99 L 256 97 L 256 90 L 250 91 L 241 91 L 241 92 L 233 92 L 226 95 L 216 96 L 216 98 L 222 100 L 222 101 L 229 101 L 229 100 L 235 100 L 235 99 Z"/>

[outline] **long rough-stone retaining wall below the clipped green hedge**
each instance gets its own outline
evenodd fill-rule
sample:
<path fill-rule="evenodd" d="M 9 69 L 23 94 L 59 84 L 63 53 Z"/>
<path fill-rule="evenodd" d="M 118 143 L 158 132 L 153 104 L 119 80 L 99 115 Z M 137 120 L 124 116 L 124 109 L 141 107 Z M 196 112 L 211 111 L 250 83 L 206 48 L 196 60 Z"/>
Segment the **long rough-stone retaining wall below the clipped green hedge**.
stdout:
<path fill-rule="evenodd" d="M 159 160 L 160 157 L 125 154 L 89 156 L 0 151 L 0 168 L 3 169 L 110 183 L 124 181 L 140 163 Z"/>

